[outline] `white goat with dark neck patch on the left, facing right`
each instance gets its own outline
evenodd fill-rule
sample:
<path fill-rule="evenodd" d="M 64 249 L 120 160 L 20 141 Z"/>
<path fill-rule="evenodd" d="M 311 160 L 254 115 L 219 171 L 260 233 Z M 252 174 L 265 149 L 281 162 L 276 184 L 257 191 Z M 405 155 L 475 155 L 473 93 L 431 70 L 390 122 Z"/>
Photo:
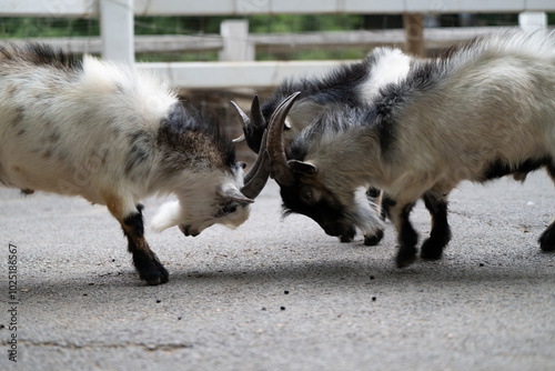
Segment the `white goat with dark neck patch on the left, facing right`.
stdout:
<path fill-rule="evenodd" d="M 39 43 L 0 48 L 0 181 L 107 205 L 149 284 L 169 273 L 144 239 L 139 201 L 176 197 L 154 217 L 158 231 L 235 228 L 268 177 L 253 167 L 244 183 L 243 166 L 206 116 L 147 72 Z"/>

